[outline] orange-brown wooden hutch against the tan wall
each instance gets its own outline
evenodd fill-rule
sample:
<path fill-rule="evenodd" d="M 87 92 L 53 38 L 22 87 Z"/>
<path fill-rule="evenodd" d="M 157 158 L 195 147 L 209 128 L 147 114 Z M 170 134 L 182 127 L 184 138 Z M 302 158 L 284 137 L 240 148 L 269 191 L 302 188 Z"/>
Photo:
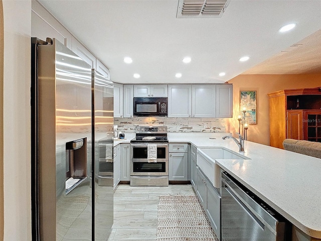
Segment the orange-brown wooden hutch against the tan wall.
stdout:
<path fill-rule="evenodd" d="M 270 146 L 286 138 L 321 142 L 321 87 L 269 93 Z"/>

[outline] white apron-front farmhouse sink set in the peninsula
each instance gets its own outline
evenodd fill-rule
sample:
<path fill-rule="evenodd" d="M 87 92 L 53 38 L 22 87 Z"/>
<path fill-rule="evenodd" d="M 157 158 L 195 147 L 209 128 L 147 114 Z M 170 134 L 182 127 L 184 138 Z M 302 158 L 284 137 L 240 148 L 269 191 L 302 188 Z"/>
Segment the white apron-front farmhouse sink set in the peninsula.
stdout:
<path fill-rule="evenodd" d="M 196 164 L 212 182 L 214 187 L 220 188 L 220 167 L 215 162 L 217 159 L 245 160 L 249 158 L 223 148 L 197 149 Z"/>

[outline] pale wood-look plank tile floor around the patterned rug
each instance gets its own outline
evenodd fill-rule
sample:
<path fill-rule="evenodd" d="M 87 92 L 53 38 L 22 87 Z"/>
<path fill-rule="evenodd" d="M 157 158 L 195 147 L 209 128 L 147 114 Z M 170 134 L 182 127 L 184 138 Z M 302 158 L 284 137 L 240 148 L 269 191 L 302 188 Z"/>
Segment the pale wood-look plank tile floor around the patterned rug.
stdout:
<path fill-rule="evenodd" d="M 114 223 L 108 240 L 156 240 L 158 195 L 193 193 L 192 185 L 118 185 L 114 192 Z"/>

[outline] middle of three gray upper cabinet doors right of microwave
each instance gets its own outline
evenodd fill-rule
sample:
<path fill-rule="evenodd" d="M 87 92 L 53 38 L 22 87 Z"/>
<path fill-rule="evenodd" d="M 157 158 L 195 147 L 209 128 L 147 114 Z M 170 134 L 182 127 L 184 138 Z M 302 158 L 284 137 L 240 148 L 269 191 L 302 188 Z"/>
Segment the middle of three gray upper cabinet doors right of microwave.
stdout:
<path fill-rule="evenodd" d="M 216 85 L 192 85 L 192 117 L 216 117 Z"/>

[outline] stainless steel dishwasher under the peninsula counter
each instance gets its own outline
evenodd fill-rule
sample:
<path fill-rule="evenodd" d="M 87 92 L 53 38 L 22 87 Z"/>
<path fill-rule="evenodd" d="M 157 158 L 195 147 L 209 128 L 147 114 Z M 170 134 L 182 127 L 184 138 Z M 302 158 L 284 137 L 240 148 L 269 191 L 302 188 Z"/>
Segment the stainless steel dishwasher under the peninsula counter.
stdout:
<path fill-rule="evenodd" d="M 284 241 L 286 219 L 222 172 L 222 241 Z"/>

